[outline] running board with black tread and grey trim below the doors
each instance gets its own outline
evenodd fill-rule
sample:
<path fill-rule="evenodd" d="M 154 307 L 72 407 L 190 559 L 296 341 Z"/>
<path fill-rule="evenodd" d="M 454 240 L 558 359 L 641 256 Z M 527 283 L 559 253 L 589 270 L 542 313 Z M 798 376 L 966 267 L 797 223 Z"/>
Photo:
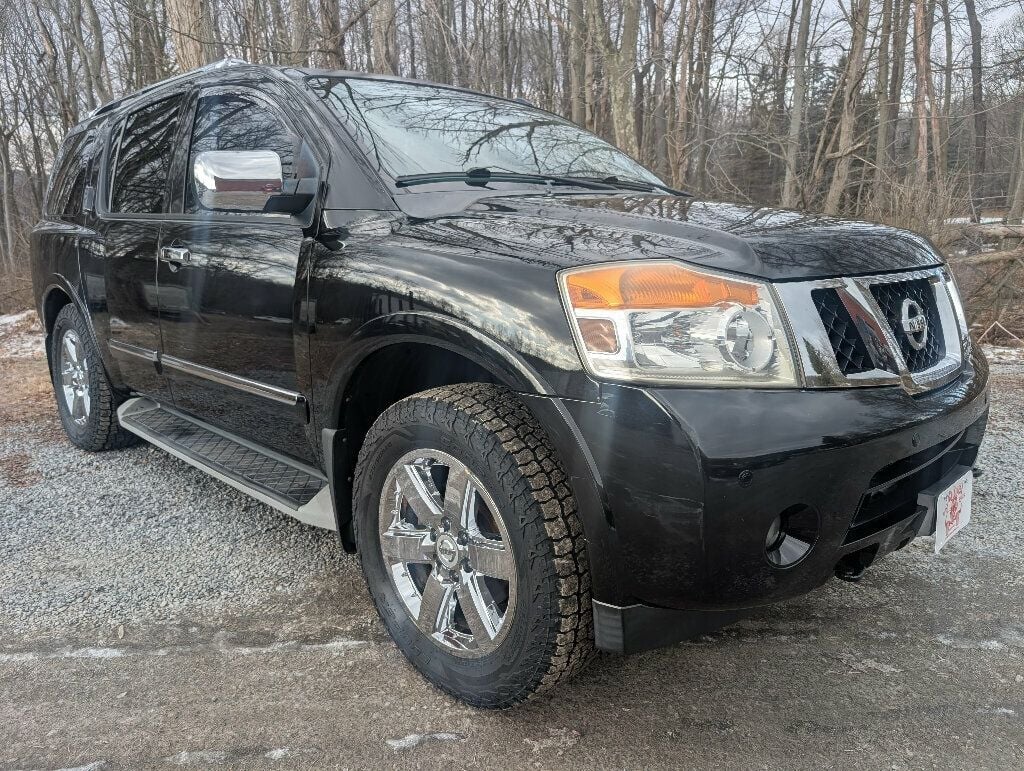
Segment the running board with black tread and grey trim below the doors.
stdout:
<path fill-rule="evenodd" d="M 327 477 L 311 466 L 138 396 L 118 408 L 125 430 L 299 521 L 337 529 Z"/>

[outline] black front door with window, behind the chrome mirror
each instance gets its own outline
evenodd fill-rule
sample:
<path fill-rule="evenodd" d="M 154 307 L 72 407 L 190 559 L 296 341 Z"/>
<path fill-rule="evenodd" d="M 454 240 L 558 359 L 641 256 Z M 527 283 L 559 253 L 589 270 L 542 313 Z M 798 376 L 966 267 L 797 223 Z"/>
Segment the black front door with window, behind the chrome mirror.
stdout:
<path fill-rule="evenodd" d="M 205 151 L 273 151 L 292 171 L 296 135 L 272 104 L 233 87 L 200 92 L 181 213 L 163 230 L 158 282 L 162 363 L 175 405 L 227 431 L 311 460 L 298 277 L 302 223 L 284 214 L 205 208 L 193 179 Z M 303 369 L 303 377 L 305 370 Z"/>

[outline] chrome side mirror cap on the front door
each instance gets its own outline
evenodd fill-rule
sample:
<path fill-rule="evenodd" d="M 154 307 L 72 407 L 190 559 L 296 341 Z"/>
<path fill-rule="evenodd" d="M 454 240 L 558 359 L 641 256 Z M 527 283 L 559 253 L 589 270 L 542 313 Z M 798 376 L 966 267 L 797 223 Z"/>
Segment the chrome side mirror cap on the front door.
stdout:
<path fill-rule="evenodd" d="M 193 162 L 196 198 L 211 211 L 264 211 L 282 192 L 281 156 L 268 149 L 204 151 Z"/>

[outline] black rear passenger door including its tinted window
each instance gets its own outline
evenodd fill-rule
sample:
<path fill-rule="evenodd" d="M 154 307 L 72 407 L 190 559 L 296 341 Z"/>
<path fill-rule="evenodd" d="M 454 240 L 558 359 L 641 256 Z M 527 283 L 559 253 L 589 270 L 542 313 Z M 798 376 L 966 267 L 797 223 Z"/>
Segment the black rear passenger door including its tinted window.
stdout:
<path fill-rule="evenodd" d="M 95 308 L 94 317 L 105 320 L 123 382 L 163 401 L 170 391 L 156 366 L 161 348 L 157 254 L 183 104 L 183 93 L 156 98 L 114 124 L 106 173 L 95 194 L 99 216 L 90 258 L 90 272 L 102 270 L 105 291 L 105 312 Z"/>

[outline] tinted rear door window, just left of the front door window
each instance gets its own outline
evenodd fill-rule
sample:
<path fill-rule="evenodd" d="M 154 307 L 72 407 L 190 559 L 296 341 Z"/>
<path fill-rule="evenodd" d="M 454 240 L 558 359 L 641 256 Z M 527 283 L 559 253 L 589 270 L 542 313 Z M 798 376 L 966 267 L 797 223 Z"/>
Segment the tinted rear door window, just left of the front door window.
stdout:
<path fill-rule="evenodd" d="M 125 120 L 115 159 L 112 212 L 164 211 L 180 103 L 180 96 L 172 96 L 148 104 Z"/>

